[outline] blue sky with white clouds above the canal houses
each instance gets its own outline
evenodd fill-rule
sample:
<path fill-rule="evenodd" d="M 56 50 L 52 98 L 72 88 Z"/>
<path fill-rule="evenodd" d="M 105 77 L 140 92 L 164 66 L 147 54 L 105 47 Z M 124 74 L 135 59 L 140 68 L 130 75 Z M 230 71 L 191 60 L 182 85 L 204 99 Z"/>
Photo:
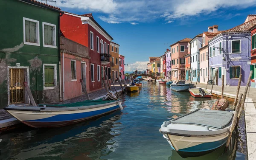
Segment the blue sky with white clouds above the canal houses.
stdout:
<path fill-rule="evenodd" d="M 256 0 L 57 0 L 63 11 L 93 13 L 120 45 L 127 71 L 145 70 L 149 56 L 163 55 L 172 43 L 193 38 L 208 26 L 227 30 L 240 25 L 248 14 L 256 14 L 255 4 Z"/>

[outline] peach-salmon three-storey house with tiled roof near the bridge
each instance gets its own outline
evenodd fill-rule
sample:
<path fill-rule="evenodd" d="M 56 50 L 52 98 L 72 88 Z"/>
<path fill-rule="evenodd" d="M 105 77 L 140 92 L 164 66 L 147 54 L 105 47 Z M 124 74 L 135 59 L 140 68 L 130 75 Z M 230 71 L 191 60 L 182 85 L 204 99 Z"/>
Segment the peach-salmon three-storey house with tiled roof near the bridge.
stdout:
<path fill-rule="evenodd" d="M 170 45 L 172 56 L 171 79 L 185 79 L 185 58 L 188 53 L 188 43 L 191 39 L 185 38 Z"/>

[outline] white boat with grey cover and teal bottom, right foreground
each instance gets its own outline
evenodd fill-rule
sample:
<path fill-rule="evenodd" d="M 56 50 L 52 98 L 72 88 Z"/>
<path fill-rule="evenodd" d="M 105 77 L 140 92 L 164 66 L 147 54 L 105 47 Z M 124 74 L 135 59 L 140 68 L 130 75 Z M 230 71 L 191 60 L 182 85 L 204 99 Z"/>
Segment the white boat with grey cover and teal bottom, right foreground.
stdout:
<path fill-rule="evenodd" d="M 233 112 L 197 109 L 163 122 L 160 132 L 181 157 L 198 157 L 227 142 Z"/>

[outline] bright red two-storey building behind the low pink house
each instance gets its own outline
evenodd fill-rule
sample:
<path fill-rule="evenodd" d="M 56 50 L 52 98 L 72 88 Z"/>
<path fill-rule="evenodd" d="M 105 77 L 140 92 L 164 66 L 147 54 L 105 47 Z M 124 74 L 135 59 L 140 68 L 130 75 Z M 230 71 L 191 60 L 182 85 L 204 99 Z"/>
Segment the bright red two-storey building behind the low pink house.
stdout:
<path fill-rule="evenodd" d="M 61 16 L 62 36 L 88 47 L 90 60 L 86 63 L 89 68 L 89 90 L 99 90 L 103 86 L 102 77 L 110 79 L 110 42 L 113 38 L 93 19 L 92 14 L 72 14 L 65 12 Z M 87 69 L 86 69 L 87 70 Z M 81 72 L 78 71 L 78 72 Z M 76 83 L 80 83 L 79 80 Z"/>

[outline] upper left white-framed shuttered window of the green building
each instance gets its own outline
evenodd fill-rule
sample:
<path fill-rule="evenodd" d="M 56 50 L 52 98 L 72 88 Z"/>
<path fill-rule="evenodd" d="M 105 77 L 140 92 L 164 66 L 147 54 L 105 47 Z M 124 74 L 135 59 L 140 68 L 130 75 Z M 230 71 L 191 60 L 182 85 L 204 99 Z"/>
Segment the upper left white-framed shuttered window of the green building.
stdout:
<path fill-rule="evenodd" d="M 25 45 L 40 46 L 39 21 L 23 17 L 23 41 Z"/>

